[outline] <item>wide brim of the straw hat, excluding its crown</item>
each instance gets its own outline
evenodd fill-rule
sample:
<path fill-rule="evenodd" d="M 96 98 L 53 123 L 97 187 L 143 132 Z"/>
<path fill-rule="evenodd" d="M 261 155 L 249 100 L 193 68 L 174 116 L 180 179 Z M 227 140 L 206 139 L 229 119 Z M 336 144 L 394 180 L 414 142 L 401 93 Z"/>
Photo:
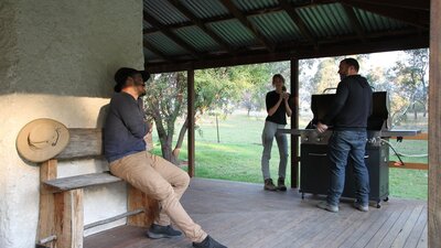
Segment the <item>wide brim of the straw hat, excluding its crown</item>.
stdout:
<path fill-rule="evenodd" d="M 49 145 L 45 149 L 33 149 L 28 141 L 28 137 L 30 136 L 32 129 L 37 125 L 51 125 L 54 129 L 58 131 L 58 139 L 55 145 Z M 66 126 L 63 123 L 49 119 L 41 118 L 35 119 L 29 123 L 26 123 L 19 132 L 17 137 L 17 150 L 22 158 L 31 162 L 43 162 L 50 160 L 62 152 L 68 144 L 69 141 L 69 132 Z"/>

